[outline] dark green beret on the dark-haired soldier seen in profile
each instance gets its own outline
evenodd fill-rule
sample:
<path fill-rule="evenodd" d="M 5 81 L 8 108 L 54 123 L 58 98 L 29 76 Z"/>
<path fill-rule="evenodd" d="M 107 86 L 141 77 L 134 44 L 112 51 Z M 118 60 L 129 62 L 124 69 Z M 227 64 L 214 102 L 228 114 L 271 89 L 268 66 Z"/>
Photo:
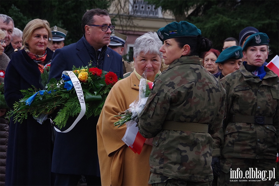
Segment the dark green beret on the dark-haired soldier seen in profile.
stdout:
<path fill-rule="evenodd" d="M 201 30 L 187 21 L 172 22 L 157 31 L 159 39 L 165 41 L 170 38 L 193 37 L 201 35 Z"/>

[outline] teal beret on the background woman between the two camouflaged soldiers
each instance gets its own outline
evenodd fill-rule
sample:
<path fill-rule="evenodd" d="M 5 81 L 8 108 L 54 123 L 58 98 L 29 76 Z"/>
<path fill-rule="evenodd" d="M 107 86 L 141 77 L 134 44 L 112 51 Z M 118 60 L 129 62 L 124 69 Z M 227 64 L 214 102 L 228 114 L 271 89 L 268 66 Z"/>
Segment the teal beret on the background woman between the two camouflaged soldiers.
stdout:
<path fill-rule="evenodd" d="M 230 59 L 238 60 L 238 59 L 241 59 L 242 57 L 243 57 L 242 48 L 239 46 L 232 46 L 232 47 L 228 47 L 225 50 L 223 50 L 220 53 L 217 60 L 215 61 L 215 63 L 224 63 Z"/>

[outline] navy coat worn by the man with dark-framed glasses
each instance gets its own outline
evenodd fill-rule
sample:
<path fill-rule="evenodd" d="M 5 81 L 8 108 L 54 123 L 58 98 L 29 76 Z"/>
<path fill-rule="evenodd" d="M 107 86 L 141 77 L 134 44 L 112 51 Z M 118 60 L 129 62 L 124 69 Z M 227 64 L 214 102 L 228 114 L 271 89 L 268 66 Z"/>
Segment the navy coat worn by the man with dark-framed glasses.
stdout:
<path fill-rule="evenodd" d="M 49 78 L 60 79 L 64 70 L 86 66 L 91 59 L 82 38 L 77 42 L 54 52 Z M 107 48 L 104 53 L 103 70 L 123 78 L 122 57 Z M 57 132 L 54 143 L 52 172 L 74 175 L 100 176 L 97 153 L 96 125 L 99 117 L 84 116 L 68 133 Z M 65 129 L 76 117 L 70 117 Z M 62 130 L 65 130 L 62 128 Z"/>

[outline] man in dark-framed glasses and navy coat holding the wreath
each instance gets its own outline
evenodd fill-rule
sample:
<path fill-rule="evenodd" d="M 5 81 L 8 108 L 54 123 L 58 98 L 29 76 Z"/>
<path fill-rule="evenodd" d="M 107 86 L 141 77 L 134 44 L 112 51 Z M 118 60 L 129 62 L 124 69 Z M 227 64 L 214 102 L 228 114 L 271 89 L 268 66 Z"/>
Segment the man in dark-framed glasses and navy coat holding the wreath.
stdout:
<path fill-rule="evenodd" d="M 86 66 L 90 60 L 92 67 L 123 78 L 121 55 L 107 47 L 113 30 L 106 10 L 87 11 L 82 17 L 83 37 L 55 51 L 49 78 L 60 79 L 64 70 L 72 70 L 73 65 Z M 96 137 L 98 118 L 84 116 L 71 131 L 56 134 L 51 169 L 56 173 L 55 185 L 77 185 L 81 175 L 85 175 L 87 185 L 101 185 Z M 64 130 L 75 119 L 70 117 Z"/>

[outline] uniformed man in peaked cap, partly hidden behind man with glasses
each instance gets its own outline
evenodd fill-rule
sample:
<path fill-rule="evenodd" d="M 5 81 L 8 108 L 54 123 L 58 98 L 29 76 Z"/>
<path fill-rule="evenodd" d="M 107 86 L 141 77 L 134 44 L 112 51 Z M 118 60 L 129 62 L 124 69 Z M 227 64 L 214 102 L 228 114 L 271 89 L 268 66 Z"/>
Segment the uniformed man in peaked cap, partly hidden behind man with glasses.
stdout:
<path fill-rule="evenodd" d="M 127 40 L 127 36 L 114 31 L 114 33 L 110 36 L 110 43 L 108 47 L 121 55 L 122 52 L 124 51 L 124 45 L 126 40 Z M 128 61 L 124 61 L 122 58 L 122 62 L 123 62 L 124 74 L 133 71 L 133 69 L 131 68 L 131 64 Z"/>

